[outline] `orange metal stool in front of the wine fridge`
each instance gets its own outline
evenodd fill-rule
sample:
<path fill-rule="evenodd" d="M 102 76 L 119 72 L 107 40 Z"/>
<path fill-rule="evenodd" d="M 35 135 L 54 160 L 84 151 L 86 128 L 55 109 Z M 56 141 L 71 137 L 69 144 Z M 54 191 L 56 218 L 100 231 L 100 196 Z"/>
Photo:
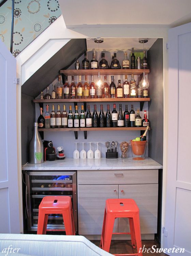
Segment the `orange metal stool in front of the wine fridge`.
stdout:
<path fill-rule="evenodd" d="M 75 235 L 74 217 L 70 196 L 45 196 L 39 205 L 37 234 L 46 234 L 49 214 L 62 214 L 67 235 Z M 57 231 L 51 229 L 51 231 Z M 60 231 L 60 230 L 59 230 Z"/>

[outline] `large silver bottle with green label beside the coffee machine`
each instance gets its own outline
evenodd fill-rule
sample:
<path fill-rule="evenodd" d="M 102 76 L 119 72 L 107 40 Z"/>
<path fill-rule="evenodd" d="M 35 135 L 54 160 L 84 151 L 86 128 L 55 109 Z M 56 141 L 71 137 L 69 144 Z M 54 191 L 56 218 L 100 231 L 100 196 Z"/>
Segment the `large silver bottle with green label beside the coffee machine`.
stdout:
<path fill-rule="evenodd" d="M 38 123 L 34 123 L 34 134 L 29 144 L 29 163 L 43 163 L 43 143 L 38 132 Z"/>

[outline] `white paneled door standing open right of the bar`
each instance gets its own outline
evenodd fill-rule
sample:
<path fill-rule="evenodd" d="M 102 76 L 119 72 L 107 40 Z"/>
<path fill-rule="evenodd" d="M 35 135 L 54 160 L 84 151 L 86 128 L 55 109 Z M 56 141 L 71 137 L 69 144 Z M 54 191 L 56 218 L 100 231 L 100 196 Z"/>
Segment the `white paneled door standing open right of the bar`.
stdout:
<path fill-rule="evenodd" d="M 164 248 L 191 255 L 191 23 L 169 30 Z M 177 252 L 177 251 L 176 251 Z M 173 252 L 166 252 L 174 255 Z"/>

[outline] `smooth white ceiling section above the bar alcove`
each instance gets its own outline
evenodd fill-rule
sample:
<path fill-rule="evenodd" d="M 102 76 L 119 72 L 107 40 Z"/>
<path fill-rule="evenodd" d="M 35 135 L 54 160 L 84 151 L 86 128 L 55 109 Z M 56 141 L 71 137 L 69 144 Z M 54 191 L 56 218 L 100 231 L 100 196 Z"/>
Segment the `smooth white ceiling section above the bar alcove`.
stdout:
<path fill-rule="evenodd" d="M 174 27 L 191 21 L 191 0 L 59 0 L 67 28 L 104 25 Z"/>

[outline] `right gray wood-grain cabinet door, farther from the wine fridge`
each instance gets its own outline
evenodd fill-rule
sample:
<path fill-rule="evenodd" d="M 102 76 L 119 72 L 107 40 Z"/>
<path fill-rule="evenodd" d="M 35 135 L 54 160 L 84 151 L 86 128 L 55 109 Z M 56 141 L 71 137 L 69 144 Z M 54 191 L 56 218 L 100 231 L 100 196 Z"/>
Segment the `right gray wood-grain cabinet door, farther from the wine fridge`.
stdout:
<path fill-rule="evenodd" d="M 142 234 L 157 233 L 158 184 L 119 185 L 119 198 L 135 200 L 139 207 Z M 128 219 L 119 218 L 119 232 L 128 232 L 127 230 Z"/>

